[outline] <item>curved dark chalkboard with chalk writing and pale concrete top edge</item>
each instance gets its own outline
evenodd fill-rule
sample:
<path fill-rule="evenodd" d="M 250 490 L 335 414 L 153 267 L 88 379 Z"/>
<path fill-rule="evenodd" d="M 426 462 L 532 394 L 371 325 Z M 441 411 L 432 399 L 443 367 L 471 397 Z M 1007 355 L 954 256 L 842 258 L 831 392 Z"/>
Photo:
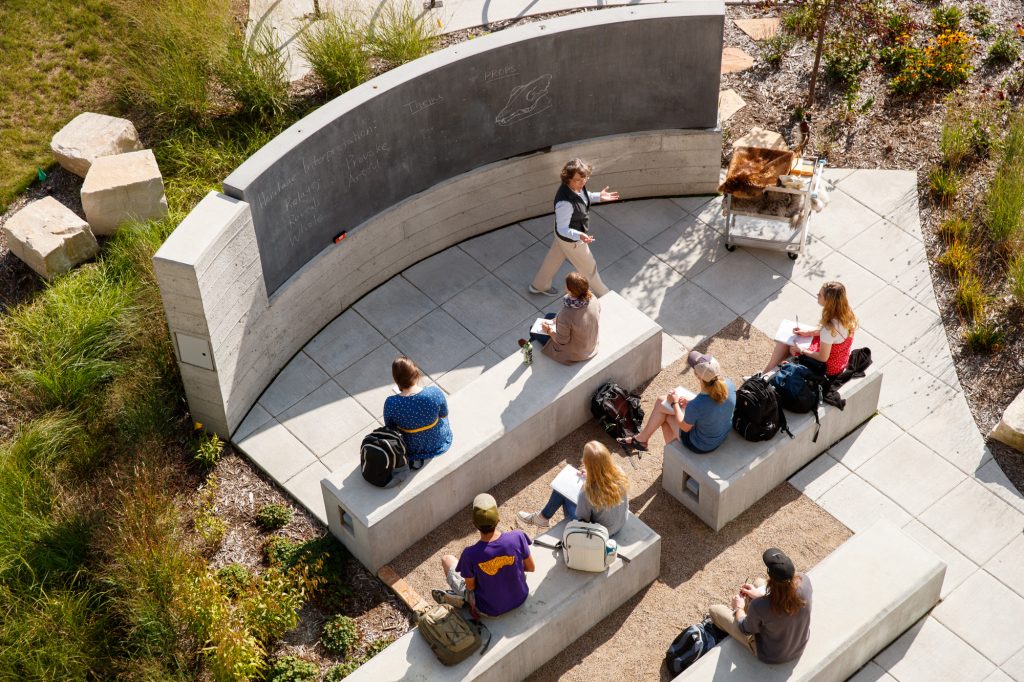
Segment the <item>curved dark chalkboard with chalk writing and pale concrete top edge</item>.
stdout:
<path fill-rule="evenodd" d="M 602 135 L 716 127 L 722 29 L 714 2 L 575 14 L 338 97 L 224 182 L 252 207 L 267 293 L 340 231 L 473 168 Z"/>

